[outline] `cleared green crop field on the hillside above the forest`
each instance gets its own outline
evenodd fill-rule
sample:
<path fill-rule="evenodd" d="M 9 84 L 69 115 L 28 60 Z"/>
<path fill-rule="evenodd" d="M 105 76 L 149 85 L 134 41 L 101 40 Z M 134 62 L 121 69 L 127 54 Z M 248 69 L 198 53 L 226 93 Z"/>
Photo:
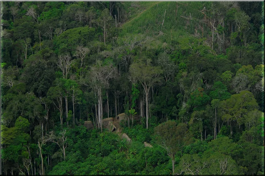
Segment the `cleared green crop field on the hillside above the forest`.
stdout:
<path fill-rule="evenodd" d="M 149 35 L 159 36 L 158 38 L 163 42 L 168 42 L 177 40 L 181 36 L 186 37 L 189 34 L 194 34 L 195 29 L 201 33 L 198 19 L 202 19 L 204 16 L 199 11 L 204 7 L 210 9 L 210 6 L 211 2 L 153 3 L 149 8 L 123 24 L 121 36 L 147 32 Z M 181 16 L 187 18 L 191 16 L 192 20 Z"/>

